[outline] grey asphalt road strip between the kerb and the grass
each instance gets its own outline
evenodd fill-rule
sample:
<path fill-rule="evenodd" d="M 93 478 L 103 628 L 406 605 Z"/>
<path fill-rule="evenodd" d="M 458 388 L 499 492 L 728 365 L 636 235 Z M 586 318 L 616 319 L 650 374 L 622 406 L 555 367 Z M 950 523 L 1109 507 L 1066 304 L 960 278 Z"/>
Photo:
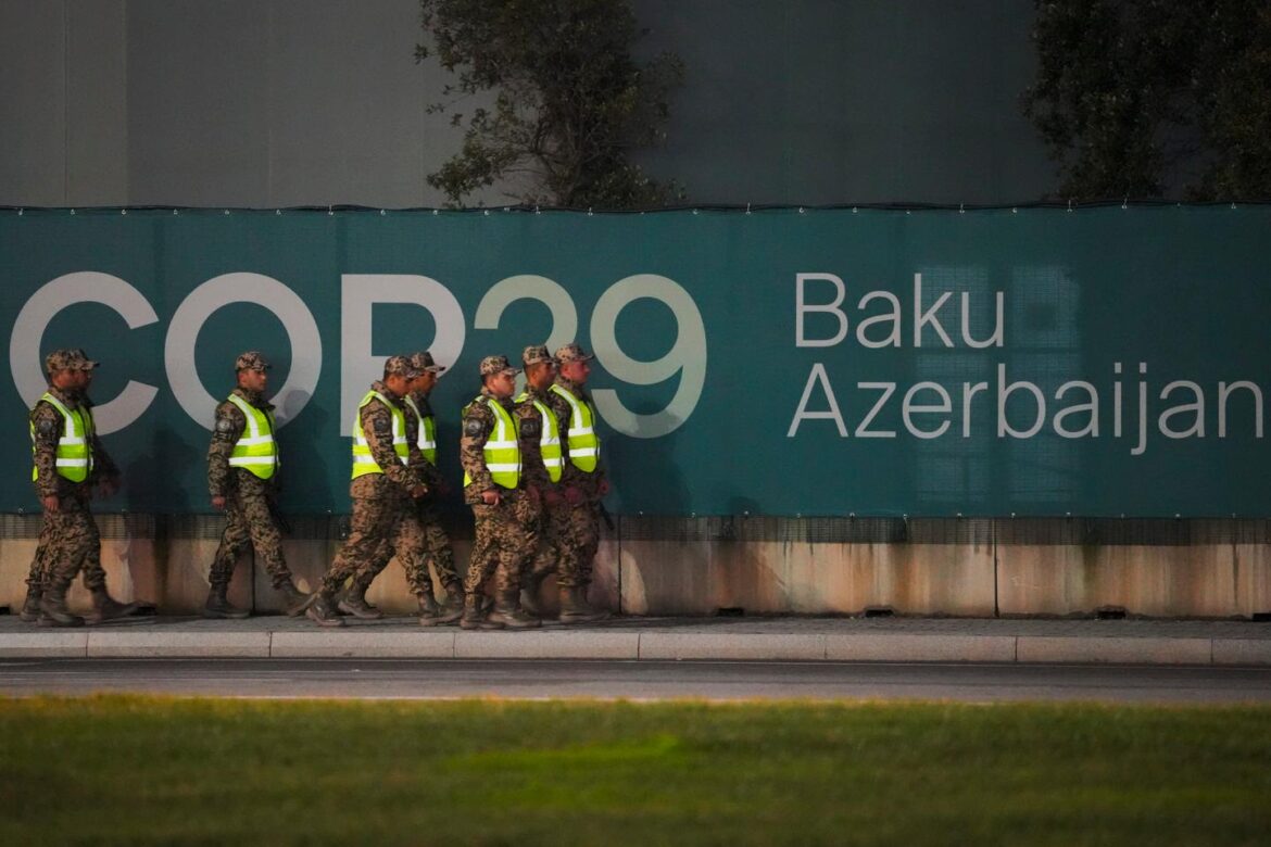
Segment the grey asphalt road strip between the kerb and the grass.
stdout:
<path fill-rule="evenodd" d="M 831 662 L 8 659 L 0 696 L 1271 702 L 1271 668 Z"/>

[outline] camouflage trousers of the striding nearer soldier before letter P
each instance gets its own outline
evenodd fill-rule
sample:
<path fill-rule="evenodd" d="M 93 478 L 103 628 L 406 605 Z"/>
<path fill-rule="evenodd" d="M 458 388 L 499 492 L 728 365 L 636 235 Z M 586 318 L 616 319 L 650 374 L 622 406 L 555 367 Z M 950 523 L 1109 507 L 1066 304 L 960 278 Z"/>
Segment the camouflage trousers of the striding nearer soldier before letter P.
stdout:
<path fill-rule="evenodd" d="M 334 594 L 350 577 L 366 589 L 388 566 L 394 552 L 400 556 L 403 551 L 422 547 L 422 536 L 423 530 L 409 498 L 397 491 L 385 497 L 355 497 L 348 540 L 323 577 L 322 593 L 328 597 Z M 414 573 L 407 570 L 407 582 L 416 594 L 427 590 L 418 568 Z"/>

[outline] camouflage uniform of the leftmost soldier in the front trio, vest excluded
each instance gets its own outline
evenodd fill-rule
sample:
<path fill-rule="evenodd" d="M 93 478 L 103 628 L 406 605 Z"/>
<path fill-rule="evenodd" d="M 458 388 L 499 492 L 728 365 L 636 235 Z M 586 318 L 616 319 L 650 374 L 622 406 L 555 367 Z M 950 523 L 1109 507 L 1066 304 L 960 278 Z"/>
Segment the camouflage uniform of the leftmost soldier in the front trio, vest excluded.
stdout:
<path fill-rule="evenodd" d="M 503 359 L 505 366 L 506 363 L 507 359 Z M 473 542 L 472 560 L 464 579 L 464 593 L 469 596 L 479 593 L 493 573 L 496 597 L 515 597 L 520 590 L 521 566 L 534 555 L 539 544 L 539 504 L 526 490 L 538 485 L 539 480 L 531 467 L 522 466 L 517 488 L 507 489 L 494 483 L 486 467 L 484 447 L 494 430 L 496 419 L 494 413 L 483 401 L 484 397 L 494 399 L 520 422 L 517 441 L 521 446 L 522 462 L 527 442 L 533 442 L 533 452 L 538 452 L 540 424 L 538 411 L 533 406 L 526 414 L 511 399 L 500 400 L 488 389 L 482 389 L 480 396 L 464 408 L 459 458 L 469 477 L 468 485 L 464 486 L 464 500 L 472 504 L 477 519 L 477 538 Z M 539 469 L 541 472 L 541 461 Z M 482 502 L 482 493 L 491 489 L 500 494 L 497 505 Z"/>

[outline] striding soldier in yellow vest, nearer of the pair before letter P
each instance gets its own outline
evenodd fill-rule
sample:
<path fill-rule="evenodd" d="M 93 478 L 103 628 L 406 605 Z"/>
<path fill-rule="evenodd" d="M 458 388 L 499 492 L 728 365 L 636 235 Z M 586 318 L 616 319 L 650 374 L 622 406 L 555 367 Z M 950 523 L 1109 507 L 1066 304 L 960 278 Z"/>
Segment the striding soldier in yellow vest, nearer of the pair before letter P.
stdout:
<path fill-rule="evenodd" d="M 366 602 L 371 580 L 388 565 L 394 549 L 422 545 L 419 523 L 407 503 L 427 494 L 428 488 L 412 467 L 412 451 L 418 452 L 418 446 L 408 438 L 403 411 L 403 397 L 417 376 L 419 371 L 409 358 L 390 356 L 384 362 L 384 380 L 374 382 L 358 405 L 353 422 L 353 481 L 348 486 L 353 500 L 351 532 L 306 612 L 320 626 L 344 625 L 337 608 L 356 617 L 380 617 L 379 610 Z M 350 577 L 352 584 L 337 598 Z M 419 585 L 412 588 L 421 590 Z"/>

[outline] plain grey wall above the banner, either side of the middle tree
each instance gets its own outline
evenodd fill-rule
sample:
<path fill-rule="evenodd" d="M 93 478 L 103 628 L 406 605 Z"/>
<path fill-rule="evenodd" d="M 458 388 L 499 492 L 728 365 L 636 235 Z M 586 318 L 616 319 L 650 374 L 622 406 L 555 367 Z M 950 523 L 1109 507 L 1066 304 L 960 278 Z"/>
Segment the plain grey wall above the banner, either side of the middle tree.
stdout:
<path fill-rule="evenodd" d="M 1054 174 L 1023 0 L 632 0 L 698 203 L 1013 203 Z M 0 204 L 437 206 L 417 0 L 0 0 Z M 464 104 L 460 110 L 470 110 Z M 501 190 L 483 198 L 506 202 Z"/>

